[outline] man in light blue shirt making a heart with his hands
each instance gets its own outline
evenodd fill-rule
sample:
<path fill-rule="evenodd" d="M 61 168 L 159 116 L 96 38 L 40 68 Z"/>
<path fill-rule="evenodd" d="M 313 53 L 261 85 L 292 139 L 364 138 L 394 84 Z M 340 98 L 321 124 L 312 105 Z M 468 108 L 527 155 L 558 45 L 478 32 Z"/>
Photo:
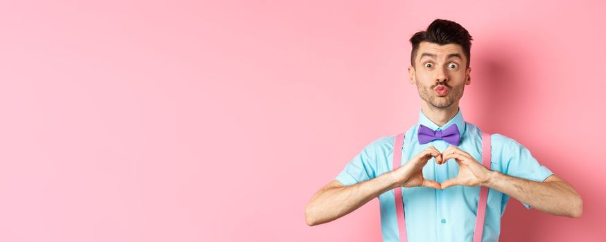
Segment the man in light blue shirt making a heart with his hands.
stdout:
<path fill-rule="evenodd" d="M 408 74 L 422 106 L 418 124 L 404 135 L 402 165 L 392 169 L 395 136 L 374 140 L 311 198 L 305 211 L 308 225 L 334 221 L 378 196 L 384 241 L 471 241 L 477 231 L 480 187 L 490 191 L 481 241 L 498 241 L 510 196 L 528 209 L 581 216 L 582 199 L 575 189 L 512 138 L 494 134 L 486 139 L 487 144 L 492 142 L 487 148 L 491 158 L 486 159 L 490 169 L 479 161 L 485 157 L 482 131 L 465 122 L 459 109 L 465 85 L 471 84 L 471 40 L 465 28 L 443 19 L 435 19 L 426 31 L 410 38 Z M 426 131 L 437 137 L 426 140 L 422 137 Z M 456 136 L 447 140 L 442 132 Z M 401 218 L 396 216 L 392 192 L 398 187 L 402 187 L 406 219 L 404 238 L 400 238 Z"/>

